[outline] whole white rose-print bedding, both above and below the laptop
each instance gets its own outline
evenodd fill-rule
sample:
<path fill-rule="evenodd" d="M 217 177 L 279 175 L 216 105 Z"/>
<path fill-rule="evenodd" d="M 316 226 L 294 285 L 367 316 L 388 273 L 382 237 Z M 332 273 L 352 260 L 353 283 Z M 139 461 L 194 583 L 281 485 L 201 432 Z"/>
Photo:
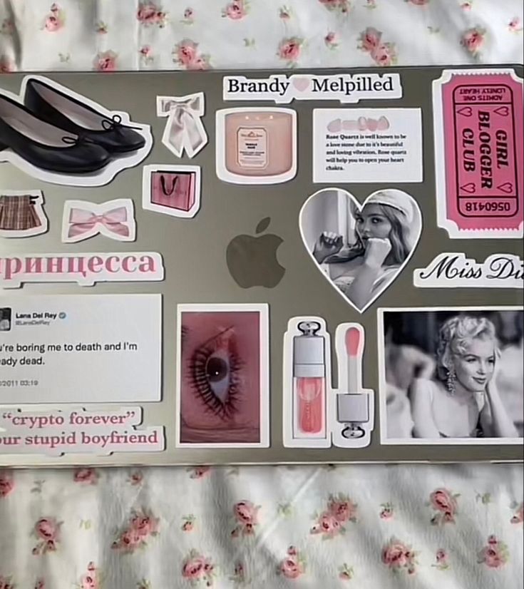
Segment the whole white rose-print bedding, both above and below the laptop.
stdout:
<path fill-rule="evenodd" d="M 522 22 L 520 0 L 0 0 L 0 71 L 511 63 Z M 0 589 L 517 589 L 522 475 L 0 471 Z"/>

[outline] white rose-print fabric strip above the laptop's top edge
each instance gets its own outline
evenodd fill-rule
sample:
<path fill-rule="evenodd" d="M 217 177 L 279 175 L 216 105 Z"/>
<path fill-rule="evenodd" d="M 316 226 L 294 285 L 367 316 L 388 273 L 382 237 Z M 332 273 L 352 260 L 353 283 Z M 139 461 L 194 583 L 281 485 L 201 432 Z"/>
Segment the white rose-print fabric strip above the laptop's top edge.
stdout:
<path fill-rule="evenodd" d="M 34 2 L 0 8 L 0 73 L 522 61 L 519 0 Z"/>

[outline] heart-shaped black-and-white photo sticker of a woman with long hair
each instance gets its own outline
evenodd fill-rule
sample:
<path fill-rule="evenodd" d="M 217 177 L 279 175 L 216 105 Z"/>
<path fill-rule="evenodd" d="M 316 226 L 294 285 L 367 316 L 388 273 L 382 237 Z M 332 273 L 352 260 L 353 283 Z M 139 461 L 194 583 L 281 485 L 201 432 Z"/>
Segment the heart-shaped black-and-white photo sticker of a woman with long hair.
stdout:
<path fill-rule="evenodd" d="M 310 196 L 300 233 L 322 275 L 360 313 L 386 290 L 415 251 L 422 230 L 416 200 L 402 190 L 377 190 L 360 204 L 339 188 Z"/>

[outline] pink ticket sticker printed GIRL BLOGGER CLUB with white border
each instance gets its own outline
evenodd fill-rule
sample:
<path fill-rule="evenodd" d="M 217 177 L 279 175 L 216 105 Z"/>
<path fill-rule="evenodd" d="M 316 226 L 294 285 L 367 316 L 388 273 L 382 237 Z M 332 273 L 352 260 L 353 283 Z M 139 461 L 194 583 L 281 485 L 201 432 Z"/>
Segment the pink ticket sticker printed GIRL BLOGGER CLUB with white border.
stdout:
<path fill-rule="evenodd" d="M 452 238 L 523 236 L 523 81 L 513 69 L 433 82 L 438 226 Z"/>

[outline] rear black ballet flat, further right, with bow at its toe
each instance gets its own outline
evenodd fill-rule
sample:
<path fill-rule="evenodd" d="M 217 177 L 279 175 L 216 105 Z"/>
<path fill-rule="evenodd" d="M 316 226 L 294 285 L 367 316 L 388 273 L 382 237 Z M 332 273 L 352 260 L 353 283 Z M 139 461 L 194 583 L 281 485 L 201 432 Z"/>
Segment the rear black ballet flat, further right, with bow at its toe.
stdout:
<path fill-rule="evenodd" d="M 143 148 L 145 138 L 122 124 L 120 115 L 108 117 L 36 78 L 26 83 L 24 103 L 38 118 L 101 145 L 109 153 Z"/>

